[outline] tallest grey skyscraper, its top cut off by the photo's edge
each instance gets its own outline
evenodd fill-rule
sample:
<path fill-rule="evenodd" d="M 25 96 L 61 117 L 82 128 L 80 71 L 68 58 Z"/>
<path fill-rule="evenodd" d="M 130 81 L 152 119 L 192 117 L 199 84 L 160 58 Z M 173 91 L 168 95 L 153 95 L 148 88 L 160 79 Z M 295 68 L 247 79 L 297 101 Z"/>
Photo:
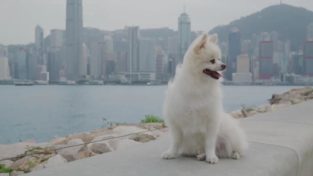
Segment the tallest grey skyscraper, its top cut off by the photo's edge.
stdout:
<path fill-rule="evenodd" d="M 66 79 L 78 80 L 83 57 L 82 0 L 66 0 Z"/>

